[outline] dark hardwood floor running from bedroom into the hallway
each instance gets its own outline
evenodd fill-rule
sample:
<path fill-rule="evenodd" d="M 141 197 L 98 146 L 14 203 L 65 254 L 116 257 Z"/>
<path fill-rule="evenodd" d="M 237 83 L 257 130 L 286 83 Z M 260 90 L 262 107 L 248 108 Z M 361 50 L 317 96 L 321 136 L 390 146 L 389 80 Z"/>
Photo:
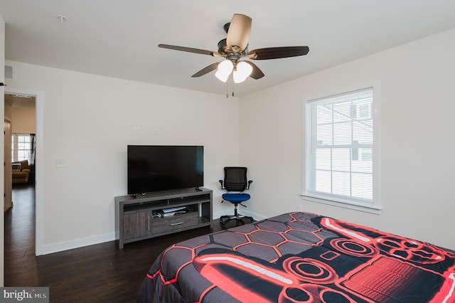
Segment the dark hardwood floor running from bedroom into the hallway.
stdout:
<path fill-rule="evenodd" d="M 215 227 L 128 243 L 117 241 L 35 256 L 35 191 L 13 190 L 14 207 L 5 213 L 4 284 L 49 287 L 50 302 L 136 302 L 147 270 L 169 245 L 221 230 Z"/>

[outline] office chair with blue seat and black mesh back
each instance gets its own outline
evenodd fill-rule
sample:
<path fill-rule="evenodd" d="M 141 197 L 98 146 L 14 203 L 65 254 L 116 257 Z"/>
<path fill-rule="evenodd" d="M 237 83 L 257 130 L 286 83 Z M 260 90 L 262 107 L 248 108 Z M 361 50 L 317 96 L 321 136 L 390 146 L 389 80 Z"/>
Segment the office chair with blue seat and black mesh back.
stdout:
<path fill-rule="evenodd" d="M 221 216 L 220 223 L 223 226 L 223 229 L 226 228 L 226 223 L 236 220 L 242 224 L 245 222 L 242 219 L 250 220 L 253 222 L 255 219 L 248 216 L 242 216 L 237 213 L 237 205 L 247 207 L 242 204 L 247 200 L 250 200 L 250 195 L 248 193 L 243 193 L 245 189 L 250 189 L 250 184 L 252 180 L 247 180 L 247 168 L 246 167 L 237 167 L 229 166 L 225 167 L 225 179 L 219 181 L 221 188 L 228 191 L 228 193 L 223 193 L 223 203 L 224 201 L 229 201 L 234 204 L 234 216 Z"/>

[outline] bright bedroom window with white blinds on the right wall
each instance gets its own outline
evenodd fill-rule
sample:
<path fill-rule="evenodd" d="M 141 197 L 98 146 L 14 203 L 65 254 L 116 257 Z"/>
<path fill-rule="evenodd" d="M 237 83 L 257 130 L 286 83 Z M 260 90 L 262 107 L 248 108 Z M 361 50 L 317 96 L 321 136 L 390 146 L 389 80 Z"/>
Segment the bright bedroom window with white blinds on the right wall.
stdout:
<path fill-rule="evenodd" d="M 304 196 L 380 209 L 374 195 L 373 88 L 310 100 L 304 106 Z"/>

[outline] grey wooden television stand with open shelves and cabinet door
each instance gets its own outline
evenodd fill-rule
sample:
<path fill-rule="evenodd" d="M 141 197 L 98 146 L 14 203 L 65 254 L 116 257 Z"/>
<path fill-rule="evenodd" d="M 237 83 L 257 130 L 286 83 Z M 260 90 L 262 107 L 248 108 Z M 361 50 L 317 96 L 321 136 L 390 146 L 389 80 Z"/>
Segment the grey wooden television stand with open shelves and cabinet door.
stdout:
<path fill-rule="evenodd" d="M 145 196 L 118 196 L 116 230 L 119 249 L 125 243 L 212 225 L 213 191 L 186 188 L 147 193 Z"/>

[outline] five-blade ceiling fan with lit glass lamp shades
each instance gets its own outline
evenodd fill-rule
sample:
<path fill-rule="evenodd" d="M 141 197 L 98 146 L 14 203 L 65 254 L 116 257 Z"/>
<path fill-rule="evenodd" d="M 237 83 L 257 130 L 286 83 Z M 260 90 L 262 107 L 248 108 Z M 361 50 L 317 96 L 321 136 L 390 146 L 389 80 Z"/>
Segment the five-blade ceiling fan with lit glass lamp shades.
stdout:
<path fill-rule="evenodd" d="M 225 60 L 208 65 L 199 70 L 191 77 L 196 78 L 213 70 L 217 70 L 215 76 L 223 82 L 226 82 L 232 73 L 235 83 L 242 83 L 248 77 L 260 79 L 264 73 L 254 63 L 242 60 L 269 60 L 277 58 L 296 57 L 306 55 L 309 52 L 308 46 L 284 46 L 274 48 L 258 48 L 248 50 L 248 41 L 250 39 L 252 18 L 242 14 L 234 14 L 230 23 L 224 26 L 228 36 L 218 42 L 218 52 L 210 50 L 201 50 L 198 48 L 187 48 L 183 46 L 170 46 L 168 44 L 159 44 L 159 48 L 168 48 L 171 50 L 181 50 L 189 53 L 199 53 L 202 55 L 211 55 L 213 57 L 225 58 Z"/>

